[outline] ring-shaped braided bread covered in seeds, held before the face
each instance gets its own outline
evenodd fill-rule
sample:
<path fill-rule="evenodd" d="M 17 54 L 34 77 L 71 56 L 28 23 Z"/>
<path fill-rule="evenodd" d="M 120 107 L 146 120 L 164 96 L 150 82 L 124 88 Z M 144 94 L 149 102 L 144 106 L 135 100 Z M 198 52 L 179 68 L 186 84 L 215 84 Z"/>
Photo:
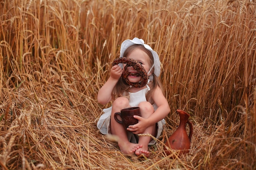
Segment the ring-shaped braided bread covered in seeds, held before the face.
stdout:
<path fill-rule="evenodd" d="M 115 66 L 119 63 L 126 64 L 126 66 L 124 67 L 124 72 L 122 74 L 122 77 L 127 84 L 129 84 L 130 86 L 133 86 L 135 88 L 141 88 L 141 87 L 144 87 L 148 83 L 148 74 L 147 74 L 144 66 L 142 66 L 139 62 L 137 62 L 136 60 L 133 60 L 131 58 L 128 58 L 128 57 L 121 57 L 121 58 L 115 59 L 114 62 L 112 63 L 112 66 Z M 138 71 L 138 73 L 136 73 L 136 74 L 129 73 L 127 71 L 128 66 L 132 66 L 136 71 Z M 141 81 L 137 82 L 137 83 L 132 83 L 128 80 L 128 75 L 140 76 Z"/>

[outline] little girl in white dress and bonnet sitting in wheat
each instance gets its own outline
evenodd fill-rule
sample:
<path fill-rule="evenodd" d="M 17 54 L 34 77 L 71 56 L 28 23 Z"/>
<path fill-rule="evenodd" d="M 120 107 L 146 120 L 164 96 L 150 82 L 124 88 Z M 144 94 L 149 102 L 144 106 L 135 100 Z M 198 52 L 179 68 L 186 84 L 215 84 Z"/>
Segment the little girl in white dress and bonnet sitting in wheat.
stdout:
<path fill-rule="evenodd" d="M 136 134 L 151 134 L 158 138 L 161 135 L 164 118 L 170 112 L 169 104 L 162 93 L 162 84 L 159 82 L 160 61 L 157 53 L 150 46 L 144 44 L 144 40 L 134 38 L 125 40 L 121 44 L 120 57 L 128 57 L 141 63 L 145 68 L 149 80 L 143 87 L 133 87 L 121 77 L 123 64 L 112 66 L 110 77 L 101 87 L 98 93 L 98 102 L 107 104 L 112 101 L 110 108 L 103 109 L 97 123 L 102 134 L 112 134 L 118 137 L 118 146 L 125 154 L 149 156 L 148 145 L 155 144 L 150 136 L 138 136 Z M 138 73 L 132 66 L 127 68 L 129 73 Z M 141 77 L 129 74 L 128 81 L 140 82 Z M 123 108 L 140 107 L 141 117 L 134 116 L 139 123 L 129 126 L 127 129 L 114 119 L 114 114 Z"/>

